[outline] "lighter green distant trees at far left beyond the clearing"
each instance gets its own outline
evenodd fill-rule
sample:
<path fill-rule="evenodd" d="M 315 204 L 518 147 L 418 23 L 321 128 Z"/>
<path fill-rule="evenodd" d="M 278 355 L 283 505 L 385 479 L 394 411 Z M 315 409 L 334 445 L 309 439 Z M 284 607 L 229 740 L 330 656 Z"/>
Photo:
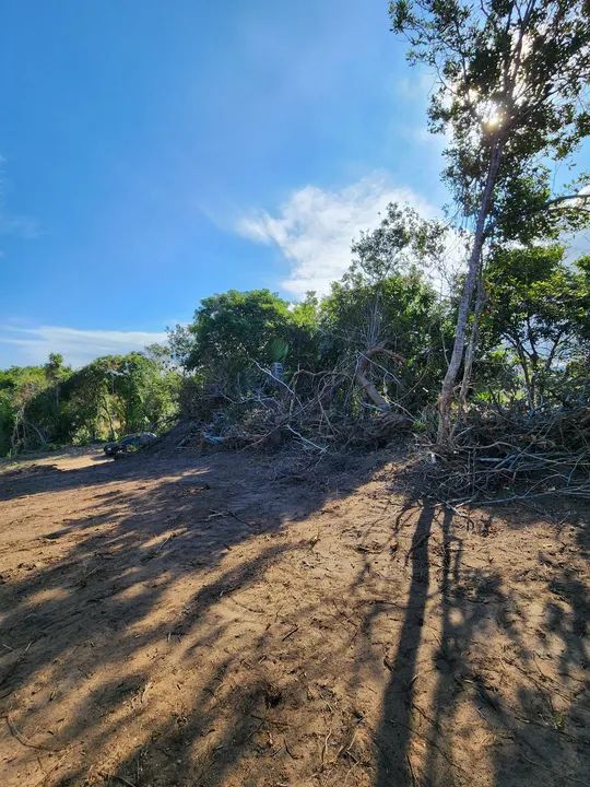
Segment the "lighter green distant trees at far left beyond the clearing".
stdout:
<path fill-rule="evenodd" d="M 158 428 L 177 411 L 178 388 L 178 374 L 150 351 L 80 369 L 58 353 L 43 366 L 13 366 L 0 372 L 0 455 Z"/>

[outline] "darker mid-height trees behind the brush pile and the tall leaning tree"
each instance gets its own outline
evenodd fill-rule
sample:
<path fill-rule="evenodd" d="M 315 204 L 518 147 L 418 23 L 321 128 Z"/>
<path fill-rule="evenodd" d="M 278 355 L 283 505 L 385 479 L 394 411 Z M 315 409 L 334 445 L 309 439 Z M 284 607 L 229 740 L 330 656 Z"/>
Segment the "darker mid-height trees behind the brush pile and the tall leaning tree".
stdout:
<path fill-rule="evenodd" d="M 401 233 L 409 216 L 420 248 L 415 234 Z M 279 423 L 288 400 L 290 423 L 299 415 L 310 441 L 338 439 L 343 422 L 382 423 L 385 413 L 434 432 L 461 290 L 459 275 L 440 291 L 447 248 L 440 225 L 391 205 L 323 299 L 310 293 L 292 305 L 267 290 L 205 298 L 167 349 L 184 369 L 185 411 L 233 422 L 275 411 Z M 461 411 L 530 416 L 587 403 L 590 257 L 566 261 L 558 245 L 497 246 L 482 287 L 458 423 Z"/>

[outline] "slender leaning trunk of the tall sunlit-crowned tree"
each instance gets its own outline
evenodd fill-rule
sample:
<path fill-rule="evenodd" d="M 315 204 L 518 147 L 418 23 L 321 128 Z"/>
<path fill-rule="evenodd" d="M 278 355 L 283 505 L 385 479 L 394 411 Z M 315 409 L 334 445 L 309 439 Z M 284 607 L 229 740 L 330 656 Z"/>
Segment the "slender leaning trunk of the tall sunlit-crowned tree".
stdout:
<path fill-rule="evenodd" d="M 475 222 L 475 235 L 473 237 L 473 246 L 469 256 L 469 266 L 463 292 L 461 294 L 461 301 L 459 302 L 459 314 L 457 315 L 457 329 L 455 332 L 455 344 L 452 348 L 449 366 L 447 374 L 442 380 L 442 387 L 438 397 L 438 434 L 437 445 L 440 447 L 448 446 L 451 439 L 451 403 L 452 396 L 455 392 L 455 385 L 459 368 L 463 360 L 463 352 L 465 349 L 465 331 L 469 320 L 469 313 L 473 301 L 473 293 L 477 283 L 477 277 L 480 273 L 482 249 L 485 242 L 485 224 L 489 214 L 489 207 L 492 204 L 492 197 L 494 193 L 494 187 L 496 185 L 496 178 L 498 175 L 499 165 L 502 162 L 504 144 L 497 141 L 492 150 L 489 158 L 489 167 L 487 169 L 487 177 L 485 180 L 485 187 L 482 195 L 482 203 L 477 211 L 477 220 Z"/>

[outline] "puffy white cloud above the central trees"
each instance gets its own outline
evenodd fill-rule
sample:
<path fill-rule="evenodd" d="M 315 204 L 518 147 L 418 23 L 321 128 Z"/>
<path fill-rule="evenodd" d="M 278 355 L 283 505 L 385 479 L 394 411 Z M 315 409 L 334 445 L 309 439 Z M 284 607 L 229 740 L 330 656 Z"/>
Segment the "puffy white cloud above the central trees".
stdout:
<path fill-rule="evenodd" d="M 339 190 L 306 186 L 294 191 L 271 214 L 264 210 L 237 223 L 240 235 L 276 245 L 288 262 L 284 290 L 300 297 L 308 290 L 323 294 L 351 263 L 351 243 L 362 230 L 378 225 L 389 202 L 409 203 L 424 218 L 436 211 L 408 188 L 392 186 L 379 173 Z"/>

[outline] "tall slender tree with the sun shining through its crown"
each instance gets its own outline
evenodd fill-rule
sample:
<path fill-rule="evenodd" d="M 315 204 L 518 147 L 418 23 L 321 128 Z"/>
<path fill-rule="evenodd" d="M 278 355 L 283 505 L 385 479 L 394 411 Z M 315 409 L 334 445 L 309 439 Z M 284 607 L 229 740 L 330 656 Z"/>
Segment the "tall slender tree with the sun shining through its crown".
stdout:
<path fill-rule="evenodd" d="M 410 61 L 437 73 L 430 127 L 450 136 L 444 177 L 472 232 L 439 396 L 446 444 L 487 245 L 555 237 L 590 215 L 588 177 L 554 191 L 548 166 L 571 164 L 590 131 L 589 8 L 583 0 L 393 0 L 390 14 L 410 42 Z"/>

